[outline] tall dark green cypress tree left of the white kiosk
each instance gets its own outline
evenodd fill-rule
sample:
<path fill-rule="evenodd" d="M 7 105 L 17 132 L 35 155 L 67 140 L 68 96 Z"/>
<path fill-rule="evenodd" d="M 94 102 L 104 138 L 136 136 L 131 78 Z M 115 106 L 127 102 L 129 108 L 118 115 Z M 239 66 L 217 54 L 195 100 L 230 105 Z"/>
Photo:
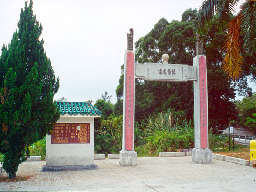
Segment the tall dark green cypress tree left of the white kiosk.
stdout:
<path fill-rule="evenodd" d="M 28 146 L 53 129 L 60 112 L 53 102 L 59 88 L 51 61 L 39 37 L 42 25 L 32 11 L 21 9 L 18 31 L 3 46 L 0 57 L 0 152 L 3 168 L 14 178 L 18 165 L 29 155 Z"/>

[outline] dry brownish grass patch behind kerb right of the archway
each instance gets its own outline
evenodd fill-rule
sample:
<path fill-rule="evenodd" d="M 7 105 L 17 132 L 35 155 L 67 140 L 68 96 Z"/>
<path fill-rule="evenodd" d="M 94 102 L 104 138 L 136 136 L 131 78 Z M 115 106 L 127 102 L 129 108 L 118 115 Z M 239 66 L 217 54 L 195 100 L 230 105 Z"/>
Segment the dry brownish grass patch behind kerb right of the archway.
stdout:
<path fill-rule="evenodd" d="M 235 144 L 235 149 L 233 150 L 233 145 L 230 144 L 230 151 L 229 147 L 226 147 L 225 149 L 214 151 L 214 153 L 250 161 L 250 146 L 247 145 Z"/>

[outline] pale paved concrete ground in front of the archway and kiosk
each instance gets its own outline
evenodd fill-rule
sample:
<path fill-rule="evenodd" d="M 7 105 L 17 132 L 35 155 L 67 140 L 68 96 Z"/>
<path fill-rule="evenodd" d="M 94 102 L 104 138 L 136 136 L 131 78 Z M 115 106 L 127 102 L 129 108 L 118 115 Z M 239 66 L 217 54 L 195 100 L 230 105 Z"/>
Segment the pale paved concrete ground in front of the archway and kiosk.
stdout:
<path fill-rule="evenodd" d="M 255 191 L 256 169 L 213 159 L 195 164 L 191 156 L 137 158 L 137 166 L 122 167 L 119 159 L 94 160 L 101 169 L 39 172 L 44 161 L 24 162 L 17 176 L 29 181 L 0 182 L 0 191 Z"/>

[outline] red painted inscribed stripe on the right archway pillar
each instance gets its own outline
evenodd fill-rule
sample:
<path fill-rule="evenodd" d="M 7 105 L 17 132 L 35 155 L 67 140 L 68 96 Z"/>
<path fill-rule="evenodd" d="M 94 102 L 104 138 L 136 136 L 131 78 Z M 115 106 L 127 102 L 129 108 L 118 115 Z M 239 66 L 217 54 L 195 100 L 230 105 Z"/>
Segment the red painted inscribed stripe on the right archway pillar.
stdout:
<path fill-rule="evenodd" d="M 200 139 L 201 148 L 208 145 L 208 109 L 207 109 L 207 79 L 206 61 L 203 56 L 199 58 L 199 87 L 200 87 Z"/>

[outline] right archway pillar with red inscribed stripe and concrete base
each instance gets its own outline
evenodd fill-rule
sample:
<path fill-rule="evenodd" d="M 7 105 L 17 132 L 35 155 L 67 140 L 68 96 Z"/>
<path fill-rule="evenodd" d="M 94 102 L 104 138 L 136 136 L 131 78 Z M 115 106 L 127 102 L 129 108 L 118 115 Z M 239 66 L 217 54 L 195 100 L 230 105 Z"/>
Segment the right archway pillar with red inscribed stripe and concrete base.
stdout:
<path fill-rule="evenodd" d="M 197 80 L 194 81 L 195 148 L 192 161 L 198 164 L 212 163 L 212 151 L 208 145 L 208 98 L 206 56 L 193 58 Z"/>

